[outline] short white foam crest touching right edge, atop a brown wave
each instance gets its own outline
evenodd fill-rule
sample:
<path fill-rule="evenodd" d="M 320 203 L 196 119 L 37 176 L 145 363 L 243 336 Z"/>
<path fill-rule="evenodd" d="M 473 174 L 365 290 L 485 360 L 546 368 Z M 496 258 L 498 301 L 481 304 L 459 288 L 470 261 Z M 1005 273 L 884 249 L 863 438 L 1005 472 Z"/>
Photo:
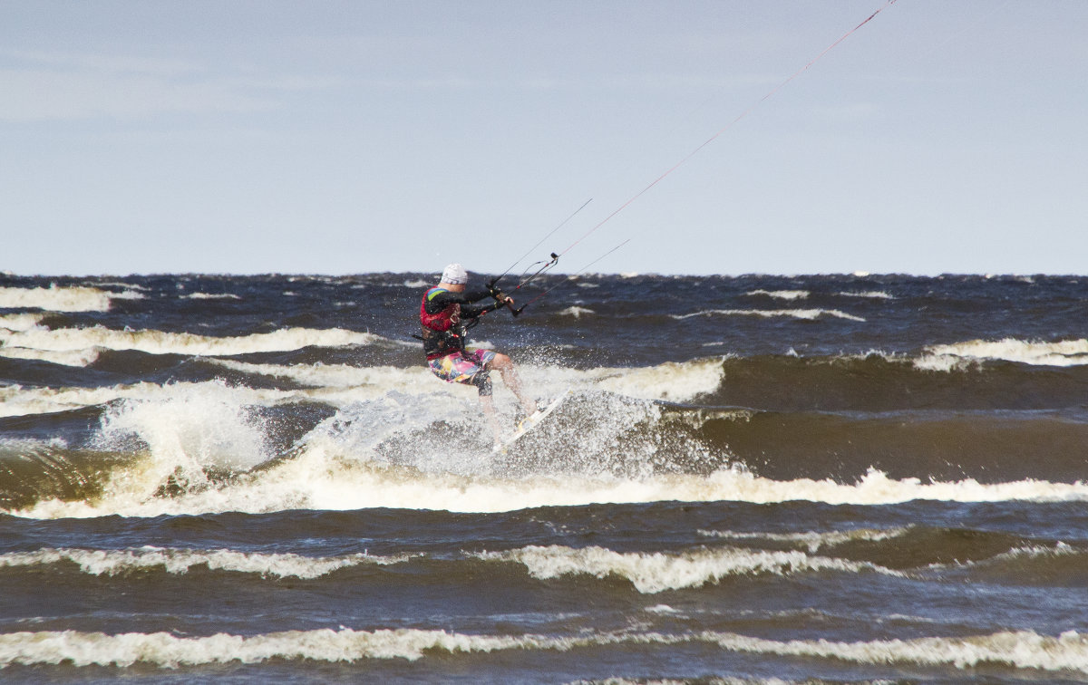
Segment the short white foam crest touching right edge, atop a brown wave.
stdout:
<path fill-rule="evenodd" d="M 964 363 L 1011 361 L 1037 366 L 1078 366 L 1088 364 L 1088 339 L 1042 342 L 1004 338 L 968 340 L 952 345 L 931 345 L 915 361 L 919 369 L 944 371 Z"/>

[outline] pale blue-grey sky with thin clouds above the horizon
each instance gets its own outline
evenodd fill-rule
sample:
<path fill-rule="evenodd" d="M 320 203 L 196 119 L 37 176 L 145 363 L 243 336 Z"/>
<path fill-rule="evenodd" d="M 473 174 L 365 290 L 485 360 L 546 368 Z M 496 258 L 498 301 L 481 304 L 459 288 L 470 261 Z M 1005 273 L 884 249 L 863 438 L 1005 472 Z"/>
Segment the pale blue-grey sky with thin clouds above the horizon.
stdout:
<path fill-rule="evenodd" d="M 0 271 L 1085 274 L 1085 36 L 1084 0 L 0 0 Z"/>

